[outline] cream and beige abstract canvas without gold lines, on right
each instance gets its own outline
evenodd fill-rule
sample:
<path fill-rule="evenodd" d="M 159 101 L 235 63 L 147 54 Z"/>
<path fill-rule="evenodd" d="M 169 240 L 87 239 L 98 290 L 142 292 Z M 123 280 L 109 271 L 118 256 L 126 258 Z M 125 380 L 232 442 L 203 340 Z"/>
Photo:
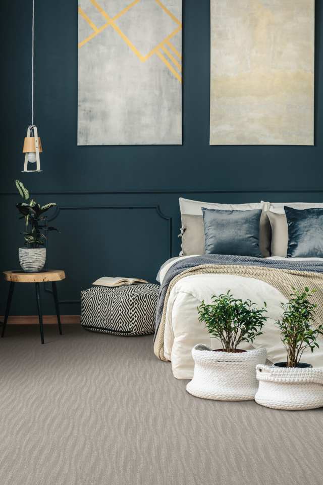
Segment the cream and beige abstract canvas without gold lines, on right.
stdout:
<path fill-rule="evenodd" d="M 211 0 L 211 145 L 312 145 L 314 0 Z"/>

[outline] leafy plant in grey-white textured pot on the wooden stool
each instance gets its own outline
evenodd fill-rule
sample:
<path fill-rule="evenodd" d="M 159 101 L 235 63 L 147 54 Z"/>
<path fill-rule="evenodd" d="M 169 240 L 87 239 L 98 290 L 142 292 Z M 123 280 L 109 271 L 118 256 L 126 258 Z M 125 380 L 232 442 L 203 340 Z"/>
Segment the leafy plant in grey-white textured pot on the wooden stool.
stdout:
<path fill-rule="evenodd" d="M 16 187 L 23 202 L 16 204 L 21 214 L 21 219 L 25 219 L 26 231 L 22 232 L 25 238 L 25 248 L 19 248 L 20 266 L 27 273 L 41 271 L 46 262 L 46 233 L 57 231 L 55 227 L 47 226 L 47 218 L 44 213 L 51 207 L 55 207 L 55 202 L 50 202 L 40 206 L 29 196 L 28 189 L 20 180 L 16 180 Z"/>

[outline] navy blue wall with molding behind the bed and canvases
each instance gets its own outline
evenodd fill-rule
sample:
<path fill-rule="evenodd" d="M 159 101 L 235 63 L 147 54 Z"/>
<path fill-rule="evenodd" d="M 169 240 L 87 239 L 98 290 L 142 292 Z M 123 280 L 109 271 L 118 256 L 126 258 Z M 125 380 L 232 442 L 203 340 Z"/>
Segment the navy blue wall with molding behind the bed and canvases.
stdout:
<path fill-rule="evenodd" d="M 64 268 L 63 314 L 79 313 L 79 291 L 102 275 L 153 280 L 179 251 L 178 197 L 251 202 L 322 201 L 323 7 L 316 2 L 315 146 L 210 147 L 209 2 L 185 0 L 183 12 L 182 147 L 77 147 L 77 3 L 36 1 L 35 123 L 43 172 L 22 174 L 22 142 L 30 123 L 31 0 L 2 4 L 2 270 L 18 268 L 23 222 L 14 180 L 40 202 L 62 208 L 48 265 Z M 156 120 L 157 121 L 157 120 Z M 7 285 L 1 282 L 0 314 Z M 17 287 L 14 314 L 35 314 L 33 289 Z M 44 294 L 44 313 L 52 314 Z"/>

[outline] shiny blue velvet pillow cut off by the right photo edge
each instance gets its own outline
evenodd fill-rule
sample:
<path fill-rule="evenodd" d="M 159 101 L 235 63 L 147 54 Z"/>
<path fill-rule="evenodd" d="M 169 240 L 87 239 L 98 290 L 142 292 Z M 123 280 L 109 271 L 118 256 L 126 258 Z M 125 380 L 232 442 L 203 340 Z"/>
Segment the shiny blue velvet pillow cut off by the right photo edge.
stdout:
<path fill-rule="evenodd" d="M 323 258 L 323 209 L 284 207 L 288 258 Z"/>

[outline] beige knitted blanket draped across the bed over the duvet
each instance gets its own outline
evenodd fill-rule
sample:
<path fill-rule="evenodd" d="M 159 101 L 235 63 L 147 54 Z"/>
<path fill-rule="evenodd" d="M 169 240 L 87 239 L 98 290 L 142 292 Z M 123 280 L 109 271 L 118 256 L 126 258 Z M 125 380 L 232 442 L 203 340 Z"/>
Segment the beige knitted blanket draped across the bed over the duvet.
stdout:
<path fill-rule="evenodd" d="M 163 313 L 161 315 L 160 324 L 156 332 L 153 346 L 154 354 L 160 360 L 168 361 L 164 355 L 164 333 L 166 310 L 170 293 L 180 279 L 193 274 L 233 274 L 237 276 L 244 276 L 246 278 L 259 279 L 277 288 L 286 298 L 290 297 L 290 294 L 292 293 L 292 286 L 298 290 L 304 290 L 306 286 L 311 289 L 316 288 L 317 292 L 314 293 L 312 297 L 313 302 L 317 304 L 314 326 L 323 322 L 323 275 L 320 273 L 263 268 L 258 266 L 233 266 L 228 264 L 203 264 L 194 266 L 175 276 L 168 286 L 163 306 Z"/>

